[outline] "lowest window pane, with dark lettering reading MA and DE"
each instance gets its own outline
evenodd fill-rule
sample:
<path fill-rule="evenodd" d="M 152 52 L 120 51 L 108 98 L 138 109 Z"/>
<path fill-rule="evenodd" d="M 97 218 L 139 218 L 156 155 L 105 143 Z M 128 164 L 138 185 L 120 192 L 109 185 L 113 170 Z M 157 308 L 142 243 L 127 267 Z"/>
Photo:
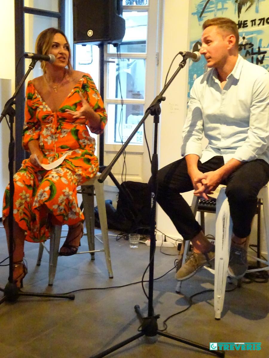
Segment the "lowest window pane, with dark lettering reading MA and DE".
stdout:
<path fill-rule="evenodd" d="M 107 144 L 125 142 L 142 119 L 143 108 L 144 106 L 141 104 L 123 106 L 109 104 L 107 108 Z M 143 145 L 143 126 L 140 127 L 130 143 Z"/>

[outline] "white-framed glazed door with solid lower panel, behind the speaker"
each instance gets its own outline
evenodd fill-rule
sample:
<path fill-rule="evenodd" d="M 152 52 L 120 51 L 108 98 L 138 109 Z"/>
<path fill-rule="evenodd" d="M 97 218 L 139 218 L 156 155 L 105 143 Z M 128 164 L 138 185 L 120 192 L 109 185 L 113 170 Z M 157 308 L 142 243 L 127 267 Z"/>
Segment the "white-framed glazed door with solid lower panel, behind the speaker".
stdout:
<path fill-rule="evenodd" d="M 96 155 L 101 165 L 110 163 L 118 152 L 119 145 L 134 131 L 146 108 L 156 96 L 159 84 L 156 52 L 160 46 L 158 24 L 161 13 L 162 6 L 159 0 L 123 0 L 126 31 L 118 48 L 111 44 L 94 45 L 90 42 L 74 46 L 75 69 L 90 73 L 99 90 L 102 89 L 99 73 L 102 79 L 100 63 L 104 54 L 103 100 L 108 112 L 108 123 L 104 136 L 95 136 Z M 145 122 L 145 128 L 151 150 L 151 118 Z M 126 149 L 125 180 L 146 182 L 150 177 L 148 151 L 143 138 L 141 126 Z M 123 160 L 122 155 L 112 169 L 119 182 L 122 180 Z M 109 178 L 107 183 L 112 184 Z"/>

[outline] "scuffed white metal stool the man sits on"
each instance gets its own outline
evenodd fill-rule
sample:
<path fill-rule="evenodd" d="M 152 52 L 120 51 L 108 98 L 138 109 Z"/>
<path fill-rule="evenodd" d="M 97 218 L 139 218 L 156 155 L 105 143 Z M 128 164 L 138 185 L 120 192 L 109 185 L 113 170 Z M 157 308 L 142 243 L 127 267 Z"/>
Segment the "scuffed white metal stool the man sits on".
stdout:
<path fill-rule="evenodd" d="M 205 269 L 215 275 L 214 277 L 214 310 L 215 319 L 221 318 L 221 312 L 223 309 L 223 302 L 225 297 L 227 270 L 230 256 L 231 235 L 232 235 L 232 221 L 230 217 L 230 207 L 228 199 L 225 194 L 226 187 L 221 188 L 217 197 L 216 203 L 216 234 L 215 234 L 215 269 L 204 266 Z M 267 260 L 261 260 L 260 258 L 253 257 L 266 265 L 266 267 L 259 267 L 247 272 L 256 272 L 262 270 L 269 270 L 269 198 L 268 198 L 268 185 L 263 187 L 259 194 L 258 199 L 261 199 L 263 203 L 264 213 L 264 227 L 266 237 L 267 248 Z M 192 211 L 196 214 L 199 198 L 194 197 L 192 202 Z M 183 262 L 185 262 L 187 253 L 189 251 L 190 241 L 185 242 Z M 248 255 L 249 256 L 249 255 Z M 178 282 L 176 291 L 180 291 L 181 282 Z"/>

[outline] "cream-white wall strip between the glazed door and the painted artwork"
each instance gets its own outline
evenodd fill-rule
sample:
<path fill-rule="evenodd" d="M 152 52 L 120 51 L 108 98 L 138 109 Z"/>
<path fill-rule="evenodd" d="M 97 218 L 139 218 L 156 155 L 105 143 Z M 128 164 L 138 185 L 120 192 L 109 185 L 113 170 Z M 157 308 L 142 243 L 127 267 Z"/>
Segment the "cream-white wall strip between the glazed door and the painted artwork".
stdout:
<path fill-rule="evenodd" d="M 163 37 L 161 55 L 161 83 L 164 86 L 167 70 L 176 53 L 189 49 L 188 39 L 189 1 L 165 0 L 163 14 Z M 179 55 L 170 69 L 169 76 L 175 72 L 182 57 Z M 166 100 L 161 104 L 159 126 L 159 168 L 180 158 L 182 144 L 181 132 L 187 113 L 188 64 L 165 92 Z M 159 91 L 159 92 L 160 92 Z M 188 201 L 192 195 L 185 195 Z M 167 236 L 181 237 L 162 209 L 157 206 L 157 229 Z"/>

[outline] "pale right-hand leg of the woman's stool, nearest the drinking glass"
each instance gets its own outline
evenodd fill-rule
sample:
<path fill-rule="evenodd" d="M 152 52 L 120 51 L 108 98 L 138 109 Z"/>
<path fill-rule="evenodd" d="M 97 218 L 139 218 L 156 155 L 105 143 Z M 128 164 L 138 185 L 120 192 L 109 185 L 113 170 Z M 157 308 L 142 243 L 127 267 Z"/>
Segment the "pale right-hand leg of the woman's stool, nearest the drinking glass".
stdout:
<path fill-rule="evenodd" d="M 103 245 L 105 250 L 105 261 L 107 263 L 108 275 L 109 278 L 113 278 L 111 259 L 110 259 L 110 250 L 109 250 L 109 241 L 108 241 L 108 228 L 107 228 L 107 213 L 105 211 L 105 198 L 104 198 L 104 184 L 99 183 L 98 180 L 94 183 L 100 226 L 102 231 Z"/>

